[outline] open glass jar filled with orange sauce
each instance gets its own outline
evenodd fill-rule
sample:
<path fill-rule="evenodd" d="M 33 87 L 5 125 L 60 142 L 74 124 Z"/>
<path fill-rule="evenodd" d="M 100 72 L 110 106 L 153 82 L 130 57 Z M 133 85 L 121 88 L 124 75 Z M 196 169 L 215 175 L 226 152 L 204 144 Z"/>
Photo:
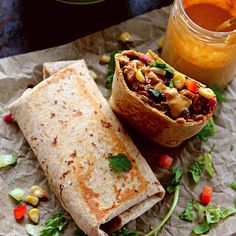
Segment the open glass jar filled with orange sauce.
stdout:
<path fill-rule="evenodd" d="M 236 30 L 215 32 L 200 27 L 187 15 L 185 2 L 219 3 L 235 16 L 236 1 L 231 0 L 230 5 L 230 0 L 176 0 L 161 53 L 168 64 L 193 79 L 208 85 L 226 85 L 236 73 Z"/>

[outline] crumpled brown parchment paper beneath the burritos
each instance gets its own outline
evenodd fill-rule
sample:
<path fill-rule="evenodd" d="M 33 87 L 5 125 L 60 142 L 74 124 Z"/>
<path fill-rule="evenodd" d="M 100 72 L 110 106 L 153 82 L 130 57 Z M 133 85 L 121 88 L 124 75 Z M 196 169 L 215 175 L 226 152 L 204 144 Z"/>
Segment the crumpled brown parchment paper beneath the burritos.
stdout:
<path fill-rule="evenodd" d="M 137 50 L 142 52 L 147 49 L 155 50 L 158 39 L 165 32 L 168 12 L 168 8 L 154 10 L 63 46 L 0 59 L 0 116 L 3 117 L 8 113 L 7 105 L 16 100 L 28 85 L 42 80 L 42 63 L 50 61 L 85 59 L 89 69 L 93 69 L 97 73 L 97 85 L 108 99 L 110 92 L 104 87 L 108 70 L 107 66 L 98 63 L 100 56 L 109 54 L 117 48 L 117 39 L 124 31 L 133 35 L 134 46 Z M 196 224 L 182 221 L 179 214 L 188 201 L 199 199 L 203 186 L 208 185 L 213 188 L 213 203 L 223 207 L 234 206 L 236 192 L 230 188 L 230 183 L 236 180 L 236 148 L 233 148 L 236 145 L 236 80 L 226 88 L 225 96 L 228 102 L 218 105 L 214 117 L 217 132 L 208 142 L 202 142 L 198 137 L 194 137 L 179 148 L 162 148 L 125 125 L 163 185 L 168 181 L 171 170 L 158 167 L 158 158 L 161 154 L 171 155 L 174 157 L 174 165 L 187 171 L 187 168 L 201 153 L 209 151 L 213 144 L 216 145 L 212 152 L 216 175 L 210 179 L 203 174 L 197 185 L 193 183 L 188 174 L 184 175 L 181 180 L 178 205 L 169 221 L 158 233 L 159 235 L 191 235 Z M 31 222 L 27 215 L 21 223 L 15 221 L 13 209 L 20 203 L 18 204 L 8 195 L 11 190 L 20 187 L 27 196 L 31 186 L 39 185 L 48 192 L 49 200 L 40 202 L 38 206 L 42 225 L 48 217 L 62 211 L 62 206 L 50 190 L 43 171 L 18 126 L 14 123 L 7 124 L 3 119 L 0 120 L 0 154 L 13 154 L 18 157 L 14 167 L 0 169 L 0 235 L 27 235 L 25 224 Z M 147 233 L 163 219 L 172 200 L 173 195 L 166 194 L 162 202 L 129 223 L 128 227 Z M 27 207 L 28 210 L 31 209 L 31 207 Z M 65 217 L 69 224 L 63 235 L 73 235 L 77 227 L 67 213 L 65 213 Z M 230 216 L 213 225 L 208 234 L 236 234 L 235 222 L 236 215 Z"/>

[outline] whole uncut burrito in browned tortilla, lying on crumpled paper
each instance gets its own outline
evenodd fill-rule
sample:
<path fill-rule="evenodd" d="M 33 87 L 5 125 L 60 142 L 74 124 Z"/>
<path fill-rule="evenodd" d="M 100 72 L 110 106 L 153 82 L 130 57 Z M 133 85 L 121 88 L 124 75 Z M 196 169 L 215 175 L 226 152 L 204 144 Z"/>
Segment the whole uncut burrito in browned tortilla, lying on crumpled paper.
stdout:
<path fill-rule="evenodd" d="M 116 231 L 163 198 L 84 61 L 26 90 L 10 110 L 57 198 L 88 235 Z M 119 155 L 131 164 L 123 172 L 109 162 Z"/>

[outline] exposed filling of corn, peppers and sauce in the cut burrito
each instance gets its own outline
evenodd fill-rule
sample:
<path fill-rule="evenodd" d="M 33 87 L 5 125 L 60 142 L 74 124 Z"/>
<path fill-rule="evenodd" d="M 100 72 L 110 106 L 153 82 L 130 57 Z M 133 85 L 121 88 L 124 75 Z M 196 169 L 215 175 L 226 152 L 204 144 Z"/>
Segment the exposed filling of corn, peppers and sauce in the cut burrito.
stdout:
<path fill-rule="evenodd" d="M 173 120 L 204 120 L 216 97 L 205 85 L 175 71 L 156 54 L 123 51 L 116 56 L 129 89 Z"/>

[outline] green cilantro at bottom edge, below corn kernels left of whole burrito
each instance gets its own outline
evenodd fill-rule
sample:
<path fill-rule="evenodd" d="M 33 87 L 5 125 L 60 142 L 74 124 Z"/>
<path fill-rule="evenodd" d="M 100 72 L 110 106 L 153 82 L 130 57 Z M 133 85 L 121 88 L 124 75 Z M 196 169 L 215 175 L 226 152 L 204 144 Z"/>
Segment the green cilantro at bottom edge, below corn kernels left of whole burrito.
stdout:
<path fill-rule="evenodd" d="M 61 213 L 56 213 L 46 220 L 45 226 L 40 230 L 40 236 L 59 236 L 67 224 Z"/>

